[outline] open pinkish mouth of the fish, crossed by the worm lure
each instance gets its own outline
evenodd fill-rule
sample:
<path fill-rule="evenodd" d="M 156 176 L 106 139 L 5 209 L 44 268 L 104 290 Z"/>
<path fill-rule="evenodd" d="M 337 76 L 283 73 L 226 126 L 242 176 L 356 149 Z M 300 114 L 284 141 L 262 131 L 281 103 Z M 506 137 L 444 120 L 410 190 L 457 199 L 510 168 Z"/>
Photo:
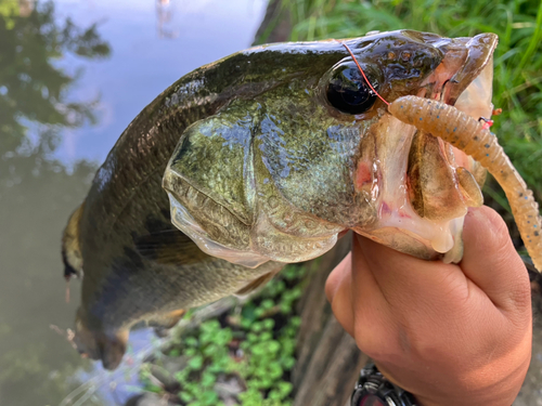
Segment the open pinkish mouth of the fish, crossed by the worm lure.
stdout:
<path fill-rule="evenodd" d="M 444 57 L 416 95 L 453 105 L 476 119 L 489 119 L 496 43 L 494 34 L 438 40 L 434 45 Z M 483 202 L 485 169 L 413 126 L 392 117 L 388 126 L 402 137 L 392 154 L 395 160 L 384 163 L 388 175 L 380 185 L 378 220 L 373 227 L 354 231 L 415 257 L 461 261 L 464 217 L 468 207 Z"/>

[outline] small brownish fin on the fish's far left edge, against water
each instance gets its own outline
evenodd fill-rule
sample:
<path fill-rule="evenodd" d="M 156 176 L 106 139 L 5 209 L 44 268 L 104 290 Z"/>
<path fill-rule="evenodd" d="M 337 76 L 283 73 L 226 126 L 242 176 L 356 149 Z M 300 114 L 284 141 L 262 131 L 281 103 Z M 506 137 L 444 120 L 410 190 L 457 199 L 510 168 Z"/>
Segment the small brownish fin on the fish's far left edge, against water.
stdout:
<path fill-rule="evenodd" d="M 82 276 L 82 256 L 79 245 L 79 221 L 85 204 L 81 204 L 69 217 L 62 235 L 62 261 L 64 262 L 64 277 Z"/>

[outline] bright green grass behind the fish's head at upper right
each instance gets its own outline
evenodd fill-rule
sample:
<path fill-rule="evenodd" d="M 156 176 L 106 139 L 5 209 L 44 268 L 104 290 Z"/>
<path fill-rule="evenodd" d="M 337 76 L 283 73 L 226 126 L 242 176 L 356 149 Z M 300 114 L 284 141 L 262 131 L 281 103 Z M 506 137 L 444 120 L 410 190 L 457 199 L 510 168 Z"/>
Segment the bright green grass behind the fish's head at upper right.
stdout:
<path fill-rule="evenodd" d="M 542 199 L 542 1 L 540 0 L 283 0 L 292 40 L 359 37 L 409 28 L 449 37 L 495 32 L 493 131 Z"/>

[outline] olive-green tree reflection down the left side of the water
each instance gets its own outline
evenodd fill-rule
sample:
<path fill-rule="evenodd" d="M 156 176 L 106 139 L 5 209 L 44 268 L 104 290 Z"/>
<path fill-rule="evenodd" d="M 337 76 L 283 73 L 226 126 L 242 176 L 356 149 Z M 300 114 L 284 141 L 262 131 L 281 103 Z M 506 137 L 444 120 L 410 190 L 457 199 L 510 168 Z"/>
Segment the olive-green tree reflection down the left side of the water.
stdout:
<path fill-rule="evenodd" d="M 60 236 L 95 166 L 68 171 L 51 155 L 63 129 L 95 121 L 98 101 L 70 102 L 78 76 L 56 61 L 109 52 L 96 25 L 60 23 L 52 2 L 0 0 L 1 405 L 59 404 L 75 383 L 78 355 L 49 325 L 73 318 Z"/>

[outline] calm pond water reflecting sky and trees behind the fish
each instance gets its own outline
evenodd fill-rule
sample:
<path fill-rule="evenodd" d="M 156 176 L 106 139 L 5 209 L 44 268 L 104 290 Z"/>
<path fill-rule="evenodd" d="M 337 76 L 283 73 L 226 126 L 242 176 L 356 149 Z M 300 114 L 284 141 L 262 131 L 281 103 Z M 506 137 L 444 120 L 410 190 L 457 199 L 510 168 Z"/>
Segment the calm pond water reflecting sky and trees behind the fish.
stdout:
<path fill-rule="evenodd" d="M 131 335 L 113 375 L 63 336 L 80 284 L 66 304 L 62 230 L 130 120 L 184 74 L 247 48 L 264 8 L 0 0 L 0 405 L 59 405 L 83 382 L 79 404 L 121 405 L 134 391 L 149 331 Z"/>

